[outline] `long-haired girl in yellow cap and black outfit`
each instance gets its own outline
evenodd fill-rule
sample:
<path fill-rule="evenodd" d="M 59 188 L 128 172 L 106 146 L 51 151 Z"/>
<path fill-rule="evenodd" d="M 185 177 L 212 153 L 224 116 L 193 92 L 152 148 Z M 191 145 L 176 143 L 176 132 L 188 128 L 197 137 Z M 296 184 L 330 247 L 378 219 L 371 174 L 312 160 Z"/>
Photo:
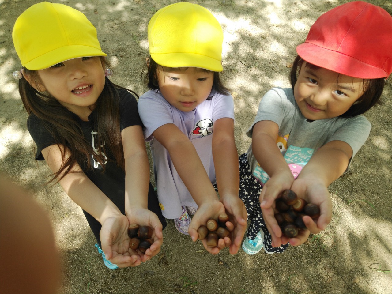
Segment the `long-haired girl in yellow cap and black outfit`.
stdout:
<path fill-rule="evenodd" d="M 13 41 L 36 160 L 83 209 L 107 267 L 151 259 L 166 223 L 149 183 L 142 122 L 134 96 L 106 77 L 95 27 L 69 6 L 41 2 L 16 20 Z M 155 229 L 145 254 L 129 248 L 132 223 Z"/>

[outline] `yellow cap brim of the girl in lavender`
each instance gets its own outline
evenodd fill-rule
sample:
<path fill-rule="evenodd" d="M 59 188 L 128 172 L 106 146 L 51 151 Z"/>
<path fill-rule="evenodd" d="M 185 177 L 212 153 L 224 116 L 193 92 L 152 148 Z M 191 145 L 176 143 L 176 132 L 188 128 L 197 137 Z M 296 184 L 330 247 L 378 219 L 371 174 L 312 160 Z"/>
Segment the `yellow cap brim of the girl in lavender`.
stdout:
<path fill-rule="evenodd" d="M 223 71 L 221 60 L 194 53 L 151 54 L 152 60 L 165 67 L 199 67 L 209 71 Z"/>

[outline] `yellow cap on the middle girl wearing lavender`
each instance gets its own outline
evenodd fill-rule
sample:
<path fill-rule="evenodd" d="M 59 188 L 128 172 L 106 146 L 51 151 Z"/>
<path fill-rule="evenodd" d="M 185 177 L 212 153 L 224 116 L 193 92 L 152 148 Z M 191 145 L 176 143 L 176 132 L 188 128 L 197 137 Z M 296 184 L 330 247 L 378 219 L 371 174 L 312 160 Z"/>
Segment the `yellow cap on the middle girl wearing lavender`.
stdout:
<path fill-rule="evenodd" d="M 188 2 L 158 10 L 148 25 L 151 58 L 166 67 L 222 71 L 222 28 L 204 7 Z"/>

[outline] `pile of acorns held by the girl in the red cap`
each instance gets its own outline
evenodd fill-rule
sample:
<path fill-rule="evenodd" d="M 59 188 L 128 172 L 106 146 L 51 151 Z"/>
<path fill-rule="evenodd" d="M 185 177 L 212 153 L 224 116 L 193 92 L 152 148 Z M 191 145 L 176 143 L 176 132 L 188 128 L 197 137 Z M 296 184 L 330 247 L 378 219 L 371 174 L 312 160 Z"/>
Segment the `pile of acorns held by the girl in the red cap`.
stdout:
<path fill-rule="evenodd" d="M 282 192 L 281 198 L 276 199 L 275 208 L 278 213 L 275 214 L 276 221 L 283 234 L 287 238 L 293 238 L 298 235 L 300 229 L 306 230 L 302 217 L 304 215 L 316 219 L 320 216 L 320 209 L 316 204 L 307 203 L 291 190 Z"/>

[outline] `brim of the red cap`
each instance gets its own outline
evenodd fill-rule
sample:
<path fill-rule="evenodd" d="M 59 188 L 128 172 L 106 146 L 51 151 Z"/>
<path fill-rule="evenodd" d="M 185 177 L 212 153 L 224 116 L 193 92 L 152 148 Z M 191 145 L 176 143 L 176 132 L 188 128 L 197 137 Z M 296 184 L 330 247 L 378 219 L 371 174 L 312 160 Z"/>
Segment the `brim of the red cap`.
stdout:
<path fill-rule="evenodd" d="M 325 49 L 309 42 L 297 46 L 298 55 L 305 61 L 354 78 L 385 78 L 384 69 L 361 62 L 338 51 Z"/>

